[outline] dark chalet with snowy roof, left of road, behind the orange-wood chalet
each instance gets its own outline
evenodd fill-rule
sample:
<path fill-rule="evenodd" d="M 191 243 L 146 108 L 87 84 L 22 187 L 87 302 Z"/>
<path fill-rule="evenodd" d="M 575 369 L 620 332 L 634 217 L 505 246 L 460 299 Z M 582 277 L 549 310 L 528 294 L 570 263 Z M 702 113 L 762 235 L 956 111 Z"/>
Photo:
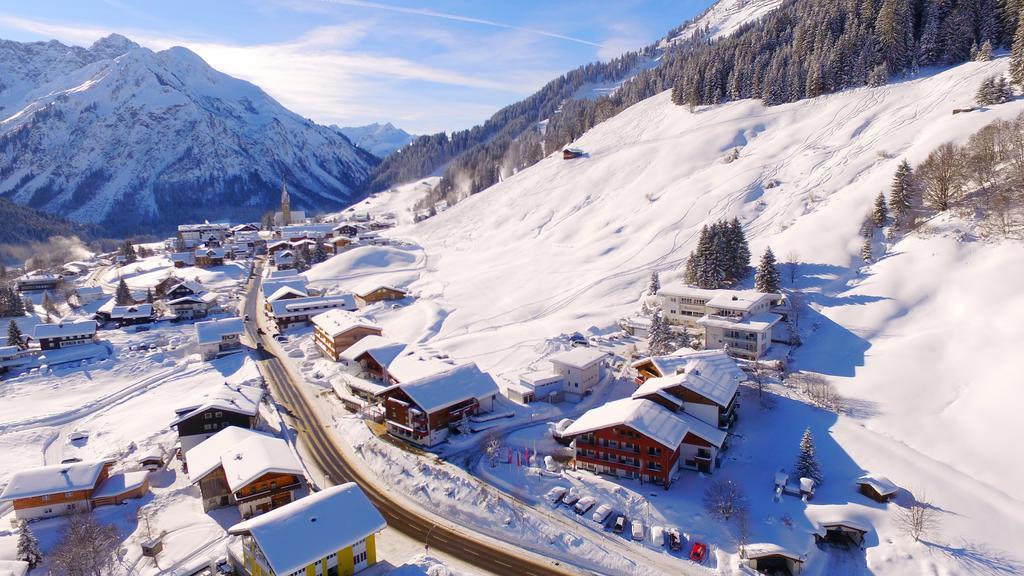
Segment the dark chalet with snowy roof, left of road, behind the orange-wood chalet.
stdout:
<path fill-rule="evenodd" d="M 255 428 L 262 400 L 261 388 L 224 382 L 176 408 L 171 427 L 178 430 L 181 454 L 228 426 Z"/>

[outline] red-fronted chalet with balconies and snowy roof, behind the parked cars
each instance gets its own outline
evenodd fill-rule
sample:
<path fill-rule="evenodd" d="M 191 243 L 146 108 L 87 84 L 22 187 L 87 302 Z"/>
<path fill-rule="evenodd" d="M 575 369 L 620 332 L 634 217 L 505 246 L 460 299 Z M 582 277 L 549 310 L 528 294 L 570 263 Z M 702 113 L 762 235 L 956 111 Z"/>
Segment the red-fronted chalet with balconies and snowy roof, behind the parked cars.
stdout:
<path fill-rule="evenodd" d="M 587 411 L 562 430 L 577 465 L 668 488 L 679 469 L 717 468 L 726 434 L 649 400 L 625 398 Z"/>

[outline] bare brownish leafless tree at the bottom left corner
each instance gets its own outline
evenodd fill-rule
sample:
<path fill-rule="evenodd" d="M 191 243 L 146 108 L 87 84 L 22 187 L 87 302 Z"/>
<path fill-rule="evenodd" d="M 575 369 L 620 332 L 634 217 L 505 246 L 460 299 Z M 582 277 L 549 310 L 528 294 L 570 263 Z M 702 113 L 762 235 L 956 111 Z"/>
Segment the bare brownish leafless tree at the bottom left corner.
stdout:
<path fill-rule="evenodd" d="M 91 512 L 68 517 L 50 554 L 50 567 L 68 576 L 109 576 L 117 566 L 121 535 L 116 526 L 99 524 Z"/>

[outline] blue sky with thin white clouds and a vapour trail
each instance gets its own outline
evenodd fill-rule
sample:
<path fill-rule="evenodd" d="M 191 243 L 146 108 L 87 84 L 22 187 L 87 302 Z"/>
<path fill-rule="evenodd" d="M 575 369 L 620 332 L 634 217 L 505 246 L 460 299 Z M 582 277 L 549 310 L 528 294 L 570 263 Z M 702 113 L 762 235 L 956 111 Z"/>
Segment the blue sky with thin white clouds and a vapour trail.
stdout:
<path fill-rule="evenodd" d="M 0 38 L 186 46 L 325 124 L 455 130 L 582 64 L 662 37 L 710 0 L 8 0 Z"/>

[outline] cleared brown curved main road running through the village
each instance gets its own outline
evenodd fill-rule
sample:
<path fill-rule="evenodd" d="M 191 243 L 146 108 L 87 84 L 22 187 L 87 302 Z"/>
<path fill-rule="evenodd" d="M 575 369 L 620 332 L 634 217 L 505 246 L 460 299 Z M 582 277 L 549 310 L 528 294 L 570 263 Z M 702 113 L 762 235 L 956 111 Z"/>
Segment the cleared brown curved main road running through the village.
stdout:
<path fill-rule="evenodd" d="M 391 499 L 390 495 L 377 490 L 374 483 L 369 482 L 362 471 L 345 461 L 342 451 L 327 431 L 327 426 L 319 420 L 315 410 L 310 406 L 302 387 L 295 382 L 285 370 L 281 359 L 266 352 L 271 349 L 267 335 L 260 335 L 255 328 L 258 314 L 257 307 L 259 279 L 261 265 L 254 265 L 253 280 L 246 298 L 245 313 L 250 318 L 246 330 L 254 342 L 261 342 L 264 352 L 259 364 L 264 376 L 267 377 L 278 400 L 292 412 L 292 419 L 297 424 L 299 437 L 306 449 L 332 481 L 354 482 L 359 485 L 377 509 L 387 520 L 388 526 L 407 534 L 418 541 L 426 541 L 429 535 L 431 546 L 495 574 L 516 576 L 568 576 L 574 574 L 559 567 L 553 561 L 538 562 L 534 554 L 525 550 L 515 553 L 504 547 L 488 542 L 467 538 L 447 526 L 435 522 L 435 519 L 419 515 L 406 508 L 404 503 Z M 511 545 L 510 545 L 511 547 Z"/>

